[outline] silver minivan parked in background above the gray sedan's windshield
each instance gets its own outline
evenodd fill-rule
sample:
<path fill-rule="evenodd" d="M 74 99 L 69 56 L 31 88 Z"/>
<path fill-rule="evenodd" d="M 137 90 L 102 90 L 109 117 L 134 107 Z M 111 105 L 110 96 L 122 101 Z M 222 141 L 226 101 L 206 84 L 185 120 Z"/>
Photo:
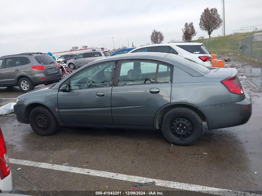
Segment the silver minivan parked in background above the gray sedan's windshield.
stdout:
<path fill-rule="evenodd" d="M 103 59 L 108 57 L 109 53 L 107 51 L 92 51 L 92 52 L 84 52 L 78 54 L 73 59 L 70 59 L 66 62 L 70 69 L 80 68 L 83 65 L 93 62 L 95 60 Z"/>

